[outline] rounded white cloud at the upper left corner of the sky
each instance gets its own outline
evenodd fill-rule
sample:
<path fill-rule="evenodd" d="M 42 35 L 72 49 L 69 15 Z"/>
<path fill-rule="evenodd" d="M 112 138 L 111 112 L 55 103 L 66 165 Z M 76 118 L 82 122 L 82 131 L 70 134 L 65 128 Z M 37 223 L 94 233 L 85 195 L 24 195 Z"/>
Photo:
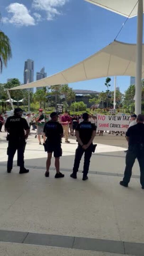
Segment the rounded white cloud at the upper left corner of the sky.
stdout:
<path fill-rule="evenodd" d="M 5 23 L 13 23 L 17 26 L 33 26 L 35 25 L 34 18 L 30 15 L 27 7 L 23 4 L 13 3 L 6 7 L 9 17 L 4 17 L 2 20 Z"/>

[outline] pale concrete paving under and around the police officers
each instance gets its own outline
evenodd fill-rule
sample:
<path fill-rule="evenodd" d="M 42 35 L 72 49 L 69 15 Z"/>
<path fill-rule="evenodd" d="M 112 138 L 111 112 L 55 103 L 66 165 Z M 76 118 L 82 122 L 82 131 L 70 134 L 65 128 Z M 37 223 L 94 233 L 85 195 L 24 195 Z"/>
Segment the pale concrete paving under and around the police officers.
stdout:
<path fill-rule="evenodd" d="M 30 173 L 19 175 L 14 161 L 12 173 L 7 174 L 5 136 L 5 133 L 0 134 L 0 230 L 8 232 L 0 233 L 0 256 L 144 255 L 144 192 L 139 183 L 137 161 L 129 188 L 118 184 L 125 167 L 127 143 L 124 137 L 107 134 L 96 137 L 97 150 L 92 155 L 89 180 L 84 182 L 81 180 L 82 163 L 78 179 L 69 177 L 77 145 L 74 137 L 70 138 L 71 144 L 62 144 L 64 156 L 60 164 L 65 178 L 55 180 L 54 160 L 50 177 L 44 177 L 46 153 L 34 135 L 28 139 L 25 152 L 25 165 Z M 41 235 L 38 242 L 32 239 L 34 246 L 18 244 L 9 231 L 50 235 L 52 242 L 53 235 L 60 235 L 65 246 L 63 243 L 42 246 L 44 239 L 47 241 L 45 235 Z M 76 247 L 74 244 L 69 247 L 65 236 L 81 240 Z M 120 247 L 117 242 L 122 242 L 118 244 Z"/>

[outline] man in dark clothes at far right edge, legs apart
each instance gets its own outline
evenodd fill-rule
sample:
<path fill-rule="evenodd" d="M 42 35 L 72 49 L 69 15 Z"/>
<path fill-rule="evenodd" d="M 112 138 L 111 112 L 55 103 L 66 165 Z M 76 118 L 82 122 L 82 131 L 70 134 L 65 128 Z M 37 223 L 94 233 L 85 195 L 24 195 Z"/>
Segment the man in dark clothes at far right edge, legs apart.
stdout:
<path fill-rule="evenodd" d="M 142 185 L 142 189 L 144 189 L 144 115 L 138 115 L 137 124 L 127 130 L 126 139 L 128 141 L 126 169 L 120 185 L 128 187 L 130 177 L 132 176 L 132 167 L 137 158 L 140 167 L 140 184 Z"/>

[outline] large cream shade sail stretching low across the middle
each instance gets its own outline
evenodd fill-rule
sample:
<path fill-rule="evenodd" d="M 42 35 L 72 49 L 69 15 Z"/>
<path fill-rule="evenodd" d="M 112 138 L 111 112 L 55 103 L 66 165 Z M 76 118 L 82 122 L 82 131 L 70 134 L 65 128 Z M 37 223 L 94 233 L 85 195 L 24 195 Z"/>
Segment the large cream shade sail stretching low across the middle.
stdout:
<path fill-rule="evenodd" d="M 144 45 L 143 45 L 144 52 Z M 136 44 L 114 41 L 82 62 L 47 78 L 11 88 L 10 90 L 43 87 L 91 80 L 107 76 L 135 76 Z M 142 65 L 144 78 L 144 55 Z"/>

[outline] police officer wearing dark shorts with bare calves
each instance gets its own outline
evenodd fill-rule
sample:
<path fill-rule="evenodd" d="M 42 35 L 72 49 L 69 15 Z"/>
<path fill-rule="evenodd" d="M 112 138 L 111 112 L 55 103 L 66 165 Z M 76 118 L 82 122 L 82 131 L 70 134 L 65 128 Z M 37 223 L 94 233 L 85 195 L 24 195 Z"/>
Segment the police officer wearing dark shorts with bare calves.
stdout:
<path fill-rule="evenodd" d="M 47 158 L 47 170 L 45 173 L 46 177 L 49 177 L 49 167 L 51 164 L 52 154 L 54 153 L 55 157 L 55 168 L 56 175 L 55 178 L 63 178 L 64 174 L 59 171 L 59 158 L 62 156 L 62 148 L 61 142 L 63 137 L 63 127 L 62 124 L 58 123 L 58 115 L 56 112 L 52 112 L 50 114 L 51 120 L 48 121 L 45 126 L 43 132 L 45 133 L 47 140 L 44 143 L 45 151 L 48 153 Z"/>

